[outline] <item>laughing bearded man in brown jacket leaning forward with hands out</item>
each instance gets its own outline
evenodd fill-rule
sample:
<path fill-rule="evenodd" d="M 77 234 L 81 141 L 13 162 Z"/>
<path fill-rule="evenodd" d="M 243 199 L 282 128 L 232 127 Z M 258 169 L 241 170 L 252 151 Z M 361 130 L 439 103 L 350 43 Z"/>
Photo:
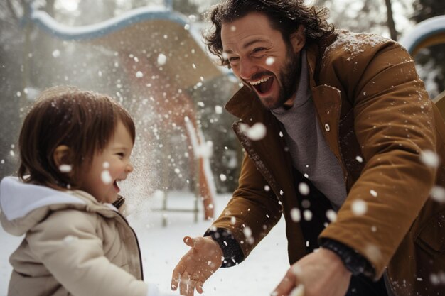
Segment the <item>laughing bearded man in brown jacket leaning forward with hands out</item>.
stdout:
<path fill-rule="evenodd" d="M 227 0 L 211 20 L 210 52 L 245 84 L 226 109 L 246 155 L 173 290 L 203 292 L 284 214 L 291 268 L 272 295 L 444 295 L 445 124 L 406 50 L 302 1 Z"/>

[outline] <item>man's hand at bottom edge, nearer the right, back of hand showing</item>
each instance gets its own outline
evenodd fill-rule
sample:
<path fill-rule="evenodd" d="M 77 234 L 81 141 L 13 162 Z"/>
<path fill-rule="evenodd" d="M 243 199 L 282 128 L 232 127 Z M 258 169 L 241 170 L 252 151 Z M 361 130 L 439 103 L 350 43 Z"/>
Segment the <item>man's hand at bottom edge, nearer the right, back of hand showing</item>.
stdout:
<path fill-rule="evenodd" d="M 304 296 L 344 296 L 351 273 L 341 259 L 326 248 L 304 256 L 287 270 L 272 296 L 295 295 L 304 289 Z M 295 289 L 299 287 L 299 289 Z"/>

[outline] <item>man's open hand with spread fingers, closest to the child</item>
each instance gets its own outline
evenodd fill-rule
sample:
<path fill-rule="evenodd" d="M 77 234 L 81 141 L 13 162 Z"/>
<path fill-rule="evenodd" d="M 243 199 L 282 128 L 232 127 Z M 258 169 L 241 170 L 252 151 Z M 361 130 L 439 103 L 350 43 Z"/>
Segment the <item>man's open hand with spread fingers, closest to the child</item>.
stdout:
<path fill-rule="evenodd" d="M 191 249 L 179 261 L 173 270 L 171 290 L 179 287 L 181 295 L 193 296 L 195 289 L 203 292 L 203 284 L 223 262 L 223 251 L 210 237 L 198 236 L 184 238 L 184 243 Z"/>

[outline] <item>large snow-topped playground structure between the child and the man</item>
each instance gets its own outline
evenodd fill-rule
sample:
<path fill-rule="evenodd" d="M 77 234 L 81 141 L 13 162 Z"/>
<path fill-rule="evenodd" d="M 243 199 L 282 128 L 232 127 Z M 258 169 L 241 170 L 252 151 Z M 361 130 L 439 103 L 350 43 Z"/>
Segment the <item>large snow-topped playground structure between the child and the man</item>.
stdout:
<path fill-rule="evenodd" d="M 44 11 L 32 10 L 28 21 L 52 38 L 88 43 L 119 53 L 125 83 L 132 97 L 139 98 L 138 103 L 129 107 L 136 126 L 150 120 L 155 121 L 163 133 L 175 126 L 186 134 L 188 168 L 195 175 L 194 209 L 168 208 L 165 194 L 161 210 L 193 212 L 198 221 L 198 202 L 202 200 L 204 218 L 212 219 L 215 185 L 209 155 L 202 153 L 205 139 L 197 123 L 195 104 L 187 90 L 225 74 L 205 53 L 199 34 L 188 18 L 166 7 L 144 7 L 91 26 L 64 26 Z M 149 107 L 143 101 L 148 102 Z M 149 137 L 148 133 L 140 136 Z M 147 150 L 138 153 L 141 152 L 149 153 Z M 165 165 L 165 160 L 161 165 Z M 147 164 L 145 169 L 150 170 L 150 166 Z M 168 176 L 164 174 L 160 179 L 160 186 L 168 188 Z M 166 221 L 163 224 L 166 225 Z"/>

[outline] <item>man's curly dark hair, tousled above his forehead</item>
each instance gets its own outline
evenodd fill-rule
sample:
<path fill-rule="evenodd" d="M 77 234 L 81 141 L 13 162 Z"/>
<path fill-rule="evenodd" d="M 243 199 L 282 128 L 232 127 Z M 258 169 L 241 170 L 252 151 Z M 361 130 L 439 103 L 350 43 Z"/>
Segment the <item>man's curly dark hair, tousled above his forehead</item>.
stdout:
<path fill-rule="evenodd" d="M 221 65 L 229 66 L 229 62 L 223 57 L 221 26 L 251 12 L 268 16 L 272 28 L 282 33 L 284 42 L 288 45 L 290 35 L 300 25 L 304 26 L 306 43 L 323 38 L 334 31 L 333 25 L 327 21 L 328 9 L 305 5 L 303 0 L 223 0 L 208 12 L 213 26 L 204 34 L 205 45 L 210 53 L 219 57 Z"/>

